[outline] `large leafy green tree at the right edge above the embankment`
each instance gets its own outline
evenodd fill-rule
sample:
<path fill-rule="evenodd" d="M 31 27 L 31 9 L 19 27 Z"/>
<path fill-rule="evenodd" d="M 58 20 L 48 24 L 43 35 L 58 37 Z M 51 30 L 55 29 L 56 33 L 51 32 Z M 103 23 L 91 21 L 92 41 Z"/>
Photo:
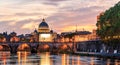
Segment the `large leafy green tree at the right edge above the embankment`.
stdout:
<path fill-rule="evenodd" d="M 120 2 L 100 15 L 96 24 L 97 34 L 108 43 L 119 43 L 120 39 Z M 110 41 L 110 42 L 109 42 Z"/>

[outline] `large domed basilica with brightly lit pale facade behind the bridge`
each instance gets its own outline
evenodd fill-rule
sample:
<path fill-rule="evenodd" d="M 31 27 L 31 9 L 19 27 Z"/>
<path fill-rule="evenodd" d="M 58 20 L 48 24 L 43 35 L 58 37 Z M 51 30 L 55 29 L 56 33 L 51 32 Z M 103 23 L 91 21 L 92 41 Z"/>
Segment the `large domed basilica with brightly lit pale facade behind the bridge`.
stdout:
<path fill-rule="evenodd" d="M 35 29 L 32 35 L 31 41 L 37 42 L 54 42 L 57 37 L 57 33 L 49 29 L 49 25 L 45 22 L 45 19 L 39 24 L 38 31 Z"/>

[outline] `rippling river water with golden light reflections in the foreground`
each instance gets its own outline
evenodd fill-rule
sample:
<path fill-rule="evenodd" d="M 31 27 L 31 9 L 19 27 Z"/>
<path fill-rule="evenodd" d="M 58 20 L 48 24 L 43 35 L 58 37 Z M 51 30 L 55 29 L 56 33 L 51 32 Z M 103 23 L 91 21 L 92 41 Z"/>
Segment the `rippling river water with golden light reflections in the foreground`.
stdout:
<path fill-rule="evenodd" d="M 120 60 L 67 54 L 50 55 L 49 52 L 30 54 L 0 52 L 0 65 L 120 65 Z"/>

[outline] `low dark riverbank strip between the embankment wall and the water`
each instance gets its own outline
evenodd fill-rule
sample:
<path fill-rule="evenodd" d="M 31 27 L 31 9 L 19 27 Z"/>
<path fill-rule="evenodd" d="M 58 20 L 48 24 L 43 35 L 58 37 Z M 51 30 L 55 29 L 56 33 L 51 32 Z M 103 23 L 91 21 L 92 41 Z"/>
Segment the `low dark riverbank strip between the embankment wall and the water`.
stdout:
<path fill-rule="evenodd" d="M 75 55 L 120 59 L 120 53 L 75 52 Z"/>

